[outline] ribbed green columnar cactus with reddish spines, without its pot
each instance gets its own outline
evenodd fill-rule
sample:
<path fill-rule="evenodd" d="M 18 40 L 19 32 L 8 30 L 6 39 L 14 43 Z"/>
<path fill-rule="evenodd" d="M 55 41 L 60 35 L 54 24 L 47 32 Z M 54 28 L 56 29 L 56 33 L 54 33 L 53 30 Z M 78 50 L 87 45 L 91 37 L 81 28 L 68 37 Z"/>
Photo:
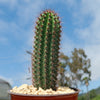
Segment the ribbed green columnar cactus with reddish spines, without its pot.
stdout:
<path fill-rule="evenodd" d="M 35 26 L 32 56 L 32 82 L 37 89 L 57 88 L 60 33 L 59 16 L 51 10 L 43 11 Z"/>

